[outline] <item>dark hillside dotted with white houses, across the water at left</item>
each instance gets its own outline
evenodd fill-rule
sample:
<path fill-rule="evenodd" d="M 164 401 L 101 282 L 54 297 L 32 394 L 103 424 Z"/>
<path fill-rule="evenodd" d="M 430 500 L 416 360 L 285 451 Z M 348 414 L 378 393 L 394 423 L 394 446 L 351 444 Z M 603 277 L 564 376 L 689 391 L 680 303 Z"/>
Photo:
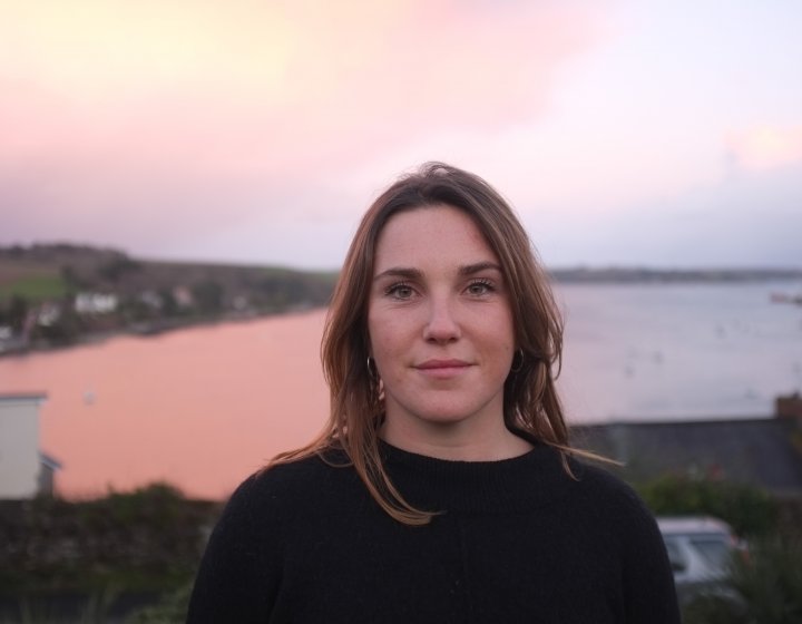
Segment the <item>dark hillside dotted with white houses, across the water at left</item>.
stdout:
<path fill-rule="evenodd" d="M 70 244 L 0 247 L 0 353 L 323 306 L 335 279 L 275 266 L 145 261 Z"/>

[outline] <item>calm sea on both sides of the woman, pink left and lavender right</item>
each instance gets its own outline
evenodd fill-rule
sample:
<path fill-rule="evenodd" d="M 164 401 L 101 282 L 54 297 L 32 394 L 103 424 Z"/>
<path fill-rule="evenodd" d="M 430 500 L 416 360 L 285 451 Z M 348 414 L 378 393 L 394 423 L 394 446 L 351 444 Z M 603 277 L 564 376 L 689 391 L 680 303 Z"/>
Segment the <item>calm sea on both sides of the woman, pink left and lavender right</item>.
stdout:
<path fill-rule="evenodd" d="M 569 422 L 771 418 L 802 391 L 802 282 L 560 284 Z M 39 437 L 69 498 L 169 482 L 222 499 L 320 431 L 325 310 L 0 358 L 42 392 Z"/>

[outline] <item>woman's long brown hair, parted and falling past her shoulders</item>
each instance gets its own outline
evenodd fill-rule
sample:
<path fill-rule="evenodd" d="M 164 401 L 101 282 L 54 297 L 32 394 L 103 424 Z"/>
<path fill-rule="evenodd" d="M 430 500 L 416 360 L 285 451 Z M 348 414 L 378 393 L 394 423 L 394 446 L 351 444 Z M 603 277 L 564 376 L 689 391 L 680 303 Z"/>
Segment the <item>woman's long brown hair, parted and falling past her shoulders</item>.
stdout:
<path fill-rule="evenodd" d="M 341 448 L 376 503 L 408 525 L 427 524 L 433 514 L 408 504 L 382 465 L 379 427 L 384 404 L 380 380 L 368 360 L 368 304 L 376 242 L 387 222 L 402 211 L 442 204 L 475 221 L 499 259 L 509 291 L 518 352 L 505 382 L 507 428 L 564 454 L 571 450 L 555 388 L 563 319 L 526 231 L 509 204 L 482 178 L 443 163 L 427 163 L 399 178 L 362 217 L 332 296 L 321 345 L 331 396 L 329 421 L 312 442 L 272 462 Z"/>

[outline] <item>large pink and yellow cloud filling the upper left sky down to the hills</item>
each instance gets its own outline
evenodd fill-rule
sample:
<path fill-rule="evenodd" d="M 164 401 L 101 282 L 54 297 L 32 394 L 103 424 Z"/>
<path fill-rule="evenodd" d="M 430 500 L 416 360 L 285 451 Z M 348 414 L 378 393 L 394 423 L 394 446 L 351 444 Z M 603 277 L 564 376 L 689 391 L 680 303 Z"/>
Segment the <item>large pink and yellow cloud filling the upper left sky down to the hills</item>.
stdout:
<path fill-rule="evenodd" d="M 1 236 L 184 247 L 265 213 L 342 216 L 339 179 L 376 158 L 537 117 L 597 26 L 558 2 L 16 3 Z"/>

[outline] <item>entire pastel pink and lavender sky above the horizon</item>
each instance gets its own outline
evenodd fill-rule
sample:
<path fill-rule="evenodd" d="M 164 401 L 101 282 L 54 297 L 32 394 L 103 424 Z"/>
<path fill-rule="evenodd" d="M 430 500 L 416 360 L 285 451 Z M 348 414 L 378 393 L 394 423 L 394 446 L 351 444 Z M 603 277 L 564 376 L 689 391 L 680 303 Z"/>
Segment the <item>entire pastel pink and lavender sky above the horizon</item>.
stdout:
<path fill-rule="evenodd" d="M 0 245 L 340 266 L 444 160 L 550 266 L 802 267 L 796 0 L 0 0 Z"/>

